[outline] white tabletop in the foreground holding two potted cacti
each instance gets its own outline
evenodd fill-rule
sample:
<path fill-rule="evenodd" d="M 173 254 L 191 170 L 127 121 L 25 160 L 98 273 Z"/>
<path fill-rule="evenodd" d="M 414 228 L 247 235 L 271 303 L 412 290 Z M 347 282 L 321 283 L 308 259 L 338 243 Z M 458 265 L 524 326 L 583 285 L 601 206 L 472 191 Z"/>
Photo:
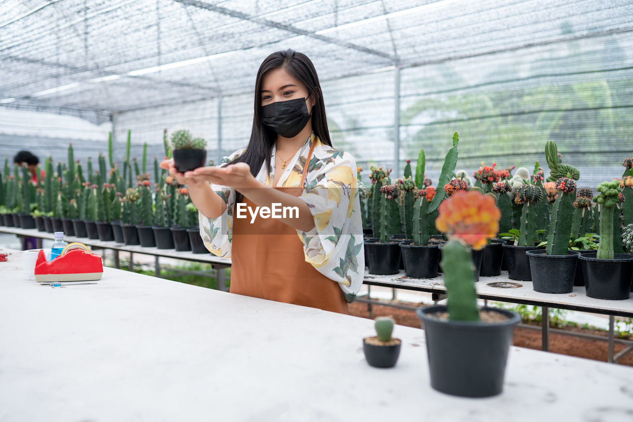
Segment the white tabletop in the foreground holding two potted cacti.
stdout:
<path fill-rule="evenodd" d="M 0 251 L 1 252 L 1 251 Z M 373 321 L 106 268 L 97 285 L 0 263 L 0 421 L 631 421 L 633 368 L 512 347 L 505 390 L 430 388 L 423 331 L 368 366 Z"/>

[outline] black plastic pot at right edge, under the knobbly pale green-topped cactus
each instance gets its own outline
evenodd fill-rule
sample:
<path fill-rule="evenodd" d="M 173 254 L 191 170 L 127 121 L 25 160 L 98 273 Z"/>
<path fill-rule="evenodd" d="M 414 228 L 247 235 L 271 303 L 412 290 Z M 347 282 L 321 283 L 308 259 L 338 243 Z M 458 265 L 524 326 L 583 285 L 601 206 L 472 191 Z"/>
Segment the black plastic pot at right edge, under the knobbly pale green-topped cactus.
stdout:
<path fill-rule="evenodd" d="M 598 259 L 598 252 L 580 254 L 587 296 L 596 299 L 629 299 L 633 282 L 633 255 L 614 254 Z"/>

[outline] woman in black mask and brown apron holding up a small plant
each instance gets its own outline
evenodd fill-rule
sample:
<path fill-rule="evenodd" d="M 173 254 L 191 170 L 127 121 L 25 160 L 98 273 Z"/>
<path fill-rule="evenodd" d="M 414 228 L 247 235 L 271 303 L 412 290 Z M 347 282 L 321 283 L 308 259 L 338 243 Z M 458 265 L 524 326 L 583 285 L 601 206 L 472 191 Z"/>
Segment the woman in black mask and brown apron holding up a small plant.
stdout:
<path fill-rule="evenodd" d="M 332 147 L 308 57 L 263 61 L 246 148 L 184 174 L 161 165 L 189 188 L 206 247 L 232 259 L 230 292 L 347 313 L 365 269 L 356 161 Z M 292 211 L 261 212 L 273 204 Z"/>

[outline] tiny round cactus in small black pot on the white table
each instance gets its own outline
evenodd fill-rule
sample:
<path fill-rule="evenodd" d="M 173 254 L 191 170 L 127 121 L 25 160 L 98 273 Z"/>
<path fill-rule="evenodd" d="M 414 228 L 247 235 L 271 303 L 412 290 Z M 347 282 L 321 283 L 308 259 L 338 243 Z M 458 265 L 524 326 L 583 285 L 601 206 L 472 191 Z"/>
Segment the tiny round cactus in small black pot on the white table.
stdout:
<path fill-rule="evenodd" d="M 402 340 L 392 338 L 394 320 L 391 316 L 379 316 L 374 322 L 375 337 L 363 338 L 363 352 L 370 366 L 392 368 L 398 362 Z"/>

